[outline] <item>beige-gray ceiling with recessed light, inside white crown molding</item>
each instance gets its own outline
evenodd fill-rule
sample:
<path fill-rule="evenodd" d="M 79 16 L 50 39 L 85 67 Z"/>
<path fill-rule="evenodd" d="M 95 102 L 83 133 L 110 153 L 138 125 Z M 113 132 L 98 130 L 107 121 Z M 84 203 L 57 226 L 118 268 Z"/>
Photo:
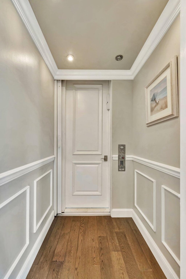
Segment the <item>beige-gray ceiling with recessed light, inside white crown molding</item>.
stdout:
<path fill-rule="evenodd" d="M 58 69 L 130 69 L 168 0 L 29 0 Z M 74 61 L 66 56 L 72 54 Z M 115 56 L 122 54 L 123 60 Z"/>

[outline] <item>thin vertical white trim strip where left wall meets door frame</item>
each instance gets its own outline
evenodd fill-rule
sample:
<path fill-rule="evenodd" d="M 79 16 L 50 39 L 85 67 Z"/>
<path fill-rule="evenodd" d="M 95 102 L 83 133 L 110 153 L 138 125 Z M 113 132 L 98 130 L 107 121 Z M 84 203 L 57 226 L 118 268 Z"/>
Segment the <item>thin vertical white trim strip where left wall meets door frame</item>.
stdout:
<path fill-rule="evenodd" d="M 57 155 L 58 155 L 58 147 L 57 147 L 57 133 L 58 133 L 58 108 L 57 108 L 57 81 L 54 81 L 54 164 L 53 164 L 53 208 L 55 212 L 55 216 L 57 215 Z"/>

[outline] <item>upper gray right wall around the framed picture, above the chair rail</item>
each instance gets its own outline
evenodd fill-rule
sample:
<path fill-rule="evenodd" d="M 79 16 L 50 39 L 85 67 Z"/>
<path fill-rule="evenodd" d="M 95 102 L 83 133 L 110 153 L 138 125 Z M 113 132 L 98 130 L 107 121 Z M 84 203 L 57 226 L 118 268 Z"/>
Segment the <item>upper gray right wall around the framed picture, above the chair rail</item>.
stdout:
<path fill-rule="evenodd" d="M 133 153 L 135 156 L 180 167 L 180 118 L 146 127 L 145 86 L 178 56 L 180 69 L 180 17 L 178 16 L 133 81 Z M 179 86 L 179 82 L 178 82 Z"/>

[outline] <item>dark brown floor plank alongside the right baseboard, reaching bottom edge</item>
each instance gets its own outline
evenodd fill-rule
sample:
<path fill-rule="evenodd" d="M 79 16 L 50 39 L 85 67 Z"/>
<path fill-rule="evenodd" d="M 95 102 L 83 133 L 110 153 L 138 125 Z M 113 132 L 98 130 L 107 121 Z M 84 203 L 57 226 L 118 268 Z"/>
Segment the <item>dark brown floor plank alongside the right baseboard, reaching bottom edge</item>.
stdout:
<path fill-rule="evenodd" d="M 158 262 L 156 261 L 153 253 L 151 252 L 149 246 L 146 244 L 144 238 L 142 237 L 140 231 L 137 230 L 133 230 L 138 242 L 140 243 L 140 246 L 144 252 L 144 254 L 146 255 L 146 258 L 148 259 L 148 262 L 151 266 L 151 269 L 153 270 L 153 273 L 155 274 L 155 277 L 157 279 L 161 278 L 161 279 L 166 279 L 166 276 L 164 275 L 161 267 L 159 266 Z"/>

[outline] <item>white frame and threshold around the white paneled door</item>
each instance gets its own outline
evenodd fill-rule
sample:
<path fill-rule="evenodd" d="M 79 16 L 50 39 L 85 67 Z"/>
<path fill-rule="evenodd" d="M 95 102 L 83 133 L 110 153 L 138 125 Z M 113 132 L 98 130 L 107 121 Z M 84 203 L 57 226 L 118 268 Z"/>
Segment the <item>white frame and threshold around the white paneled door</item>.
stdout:
<path fill-rule="evenodd" d="M 82 80 L 83 81 L 83 80 Z M 65 163 L 66 163 L 66 85 L 67 81 L 58 80 L 57 81 L 57 103 L 58 103 L 58 133 L 57 133 L 57 162 L 58 162 L 58 183 L 57 183 L 57 214 L 63 215 L 65 210 Z M 111 201 L 112 201 L 112 188 L 111 188 L 111 176 L 112 176 L 112 81 L 109 81 L 109 94 L 110 94 L 110 110 L 109 110 L 109 210 L 110 213 L 106 213 L 106 215 L 111 214 Z M 96 215 L 103 215 L 103 212 L 97 212 L 95 210 Z M 68 215 L 74 215 L 68 213 Z M 77 215 L 77 214 L 76 214 Z M 80 213 L 79 215 L 94 215 L 94 213 Z"/>

